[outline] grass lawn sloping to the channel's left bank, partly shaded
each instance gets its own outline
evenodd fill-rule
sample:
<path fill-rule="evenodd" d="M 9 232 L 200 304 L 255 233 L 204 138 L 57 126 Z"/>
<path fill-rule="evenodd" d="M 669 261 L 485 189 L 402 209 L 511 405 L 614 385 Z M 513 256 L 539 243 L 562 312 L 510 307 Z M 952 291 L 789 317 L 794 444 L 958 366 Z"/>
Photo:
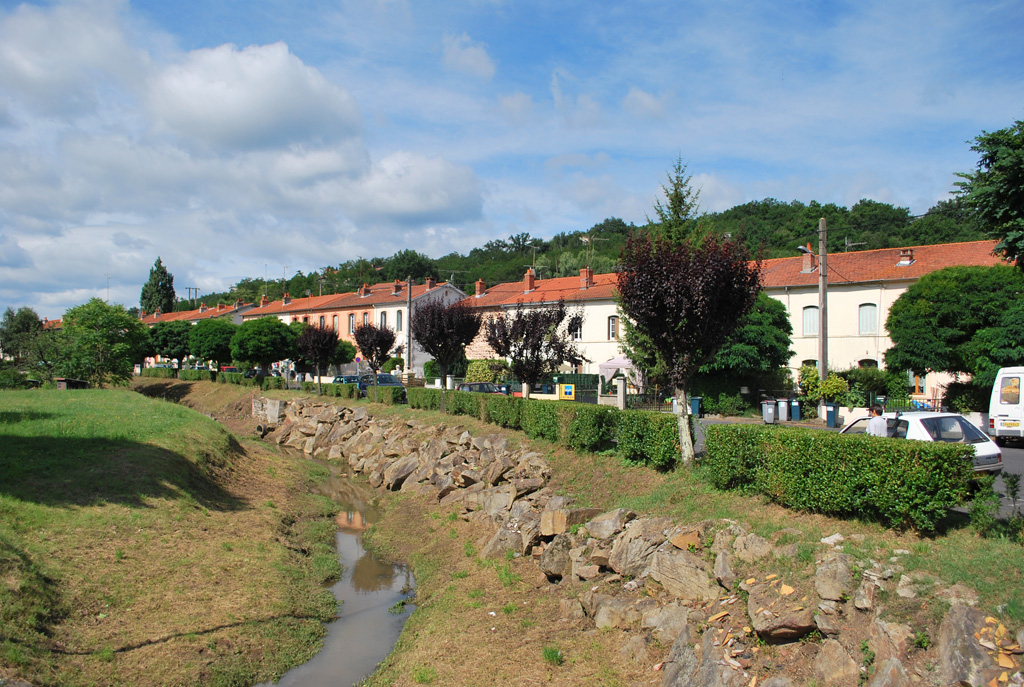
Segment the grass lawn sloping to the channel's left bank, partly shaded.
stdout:
<path fill-rule="evenodd" d="M 0 392 L 0 677 L 234 685 L 318 648 L 318 475 L 127 390 Z"/>

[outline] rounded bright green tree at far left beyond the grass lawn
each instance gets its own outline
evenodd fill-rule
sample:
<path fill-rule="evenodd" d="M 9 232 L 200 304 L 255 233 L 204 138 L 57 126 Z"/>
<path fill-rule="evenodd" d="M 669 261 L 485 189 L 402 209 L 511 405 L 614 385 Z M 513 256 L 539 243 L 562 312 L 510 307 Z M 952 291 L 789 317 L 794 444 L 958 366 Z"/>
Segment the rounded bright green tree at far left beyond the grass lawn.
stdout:
<path fill-rule="evenodd" d="M 93 298 L 65 313 L 55 372 L 99 387 L 128 384 L 148 346 L 145 326 L 124 306 Z"/>

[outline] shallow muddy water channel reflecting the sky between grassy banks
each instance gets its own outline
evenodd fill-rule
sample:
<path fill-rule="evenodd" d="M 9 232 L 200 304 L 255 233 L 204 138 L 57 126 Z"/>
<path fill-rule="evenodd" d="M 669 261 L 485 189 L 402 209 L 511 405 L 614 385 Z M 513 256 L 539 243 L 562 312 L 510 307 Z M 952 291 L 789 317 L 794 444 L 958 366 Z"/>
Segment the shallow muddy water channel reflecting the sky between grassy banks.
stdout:
<path fill-rule="evenodd" d="M 412 604 L 406 603 L 400 613 L 390 612 L 400 601 L 408 602 L 413 593 L 412 572 L 402 565 L 385 563 L 362 548 L 362 532 L 379 517 L 370 505 L 373 489 L 354 483 L 339 466 L 325 465 L 331 477 L 315 490 L 341 506 L 336 543 L 343 571 L 331 592 L 342 603 L 338 619 L 327 627 L 324 648 L 281 678 L 278 684 L 286 687 L 358 683 L 394 648 L 412 611 Z"/>

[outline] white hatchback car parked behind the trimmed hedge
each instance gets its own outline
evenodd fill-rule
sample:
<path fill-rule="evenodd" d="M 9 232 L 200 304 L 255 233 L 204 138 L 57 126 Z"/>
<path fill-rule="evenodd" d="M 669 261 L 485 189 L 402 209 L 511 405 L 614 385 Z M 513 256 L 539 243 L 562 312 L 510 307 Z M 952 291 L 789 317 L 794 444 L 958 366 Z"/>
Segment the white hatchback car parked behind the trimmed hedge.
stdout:
<path fill-rule="evenodd" d="M 889 436 L 919 441 L 970 443 L 974 446 L 974 471 L 998 474 L 1002 472 L 1002 454 L 984 432 L 967 418 L 955 413 L 883 413 Z M 842 434 L 863 434 L 868 416 L 857 418 L 841 430 Z"/>

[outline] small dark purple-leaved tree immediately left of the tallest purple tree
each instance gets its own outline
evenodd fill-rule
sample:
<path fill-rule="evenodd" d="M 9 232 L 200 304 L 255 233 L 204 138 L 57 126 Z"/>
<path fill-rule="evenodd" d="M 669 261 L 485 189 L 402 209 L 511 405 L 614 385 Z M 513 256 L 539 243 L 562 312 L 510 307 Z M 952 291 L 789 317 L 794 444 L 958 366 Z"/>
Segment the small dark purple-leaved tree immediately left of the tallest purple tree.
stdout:
<path fill-rule="evenodd" d="M 572 343 L 569 332 L 583 327 L 583 313 L 570 311 L 565 301 L 524 306 L 487 319 L 484 336 L 501 357 L 508 358 L 513 377 L 522 383 L 522 395 L 563 364 L 583 364 L 587 358 Z"/>

